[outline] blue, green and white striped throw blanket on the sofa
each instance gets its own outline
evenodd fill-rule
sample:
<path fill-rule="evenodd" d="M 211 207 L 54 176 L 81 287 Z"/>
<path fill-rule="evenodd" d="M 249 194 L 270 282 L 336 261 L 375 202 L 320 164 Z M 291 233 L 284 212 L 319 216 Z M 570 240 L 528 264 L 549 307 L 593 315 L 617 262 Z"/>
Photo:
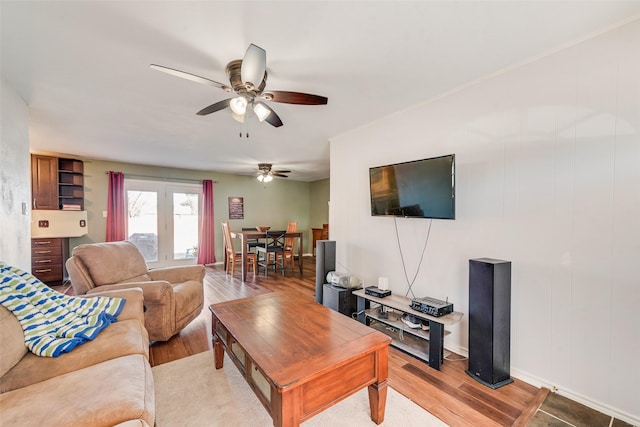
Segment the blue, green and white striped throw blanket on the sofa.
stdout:
<path fill-rule="evenodd" d="M 64 295 L 30 273 L 0 262 L 0 304 L 20 321 L 32 353 L 57 357 L 116 322 L 125 300 Z"/>

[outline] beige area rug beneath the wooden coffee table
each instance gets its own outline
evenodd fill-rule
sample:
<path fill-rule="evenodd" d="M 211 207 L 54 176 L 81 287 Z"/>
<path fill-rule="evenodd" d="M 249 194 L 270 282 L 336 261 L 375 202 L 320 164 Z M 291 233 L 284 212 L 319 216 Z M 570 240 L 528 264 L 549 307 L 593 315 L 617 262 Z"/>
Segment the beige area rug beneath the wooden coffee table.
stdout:
<path fill-rule="evenodd" d="M 152 368 L 157 427 L 268 427 L 273 421 L 233 362 L 215 369 L 207 351 Z M 446 426 L 391 387 L 387 389 L 387 427 Z M 369 397 L 364 388 L 302 423 L 304 427 L 370 427 Z"/>

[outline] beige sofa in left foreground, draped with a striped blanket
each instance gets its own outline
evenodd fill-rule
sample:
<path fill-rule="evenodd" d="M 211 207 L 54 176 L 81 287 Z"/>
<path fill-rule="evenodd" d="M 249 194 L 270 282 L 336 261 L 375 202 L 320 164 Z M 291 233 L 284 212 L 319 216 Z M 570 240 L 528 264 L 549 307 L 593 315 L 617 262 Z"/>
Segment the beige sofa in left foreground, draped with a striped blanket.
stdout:
<path fill-rule="evenodd" d="M 0 425 L 154 425 L 142 290 L 95 295 L 126 298 L 118 321 L 54 358 L 29 352 L 20 323 L 0 305 Z"/>

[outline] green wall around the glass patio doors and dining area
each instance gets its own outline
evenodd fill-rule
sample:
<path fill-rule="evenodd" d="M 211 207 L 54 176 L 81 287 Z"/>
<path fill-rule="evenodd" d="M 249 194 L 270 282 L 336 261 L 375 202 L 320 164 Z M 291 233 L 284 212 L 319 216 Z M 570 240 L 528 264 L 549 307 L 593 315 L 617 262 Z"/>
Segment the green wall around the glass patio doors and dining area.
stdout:
<path fill-rule="evenodd" d="M 316 195 L 316 192 L 318 194 L 324 194 L 324 190 L 311 190 L 316 187 L 315 183 L 274 179 L 264 184 L 253 176 L 173 169 L 82 158 L 80 158 L 80 160 L 84 161 L 84 196 L 89 233 L 83 237 L 69 239 L 69 246 L 71 248 L 81 243 L 105 241 L 106 218 L 104 218 L 103 212 L 107 210 L 107 172 L 117 171 L 123 172 L 125 177 L 127 175 L 144 177 L 144 179 L 154 177 L 155 179 L 166 181 L 202 181 L 203 179 L 211 179 L 214 181 L 214 215 L 217 224 L 229 220 L 228 198 L 232 196 L 243 197 L 244 219 L 229 220 L 232 230 L 257 225 L 268 225 L 274 229 L 286 229 L 287 222 L 298 221 L 298 230 L 304 232 L 304 253 L 311 253 L 309 249 L 311 247 L 311 205 L 322 205 L 322 202 L 316 201 L 316 199 L 320 197 Z M 326 181 L 328 182 L 328 180 Z M 324 185 L 319 187 L 324 189 Z M 326 187 L 328 188 L 328 183 Z M 312 193 L 313 197 L 311 196 Z M 328 191 L 326 193 L 323 215 L 326 215 L 328 218 L 328 209 L 326 206 Z M 315 221 L 315 216 L 313 218 Z M 315 227 L 316 225 L 313 226 Z M 216 258 L 220 261 L 224 252 L 222 230 L 219 226 L 216 228 L 215 250 Z"/>

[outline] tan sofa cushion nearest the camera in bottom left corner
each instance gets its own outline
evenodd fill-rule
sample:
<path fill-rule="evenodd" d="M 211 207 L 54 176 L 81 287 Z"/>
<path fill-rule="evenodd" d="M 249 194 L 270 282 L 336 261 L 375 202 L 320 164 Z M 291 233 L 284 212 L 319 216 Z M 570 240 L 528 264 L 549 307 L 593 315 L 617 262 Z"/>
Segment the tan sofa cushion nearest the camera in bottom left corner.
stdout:
<path fill-rule="evenodd" d="M 154 425 L 153 376 L 140 354 L 118 357 L 0 394 L 2 425 L 114 426 L 129 420 Z"/>

